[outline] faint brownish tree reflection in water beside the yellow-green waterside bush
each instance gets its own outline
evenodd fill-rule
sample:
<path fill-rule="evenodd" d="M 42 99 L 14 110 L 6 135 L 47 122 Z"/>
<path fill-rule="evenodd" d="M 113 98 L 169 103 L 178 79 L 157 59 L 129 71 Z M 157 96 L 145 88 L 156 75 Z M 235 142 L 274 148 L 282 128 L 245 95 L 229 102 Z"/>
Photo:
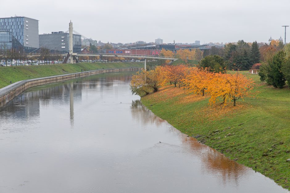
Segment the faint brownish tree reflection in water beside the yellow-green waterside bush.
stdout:
<path fill-rule="evenodd" d="M 131 113 L 134 119 L 141 121 L 144 125 L 154 123 L 156 126 L 160 126 L 164 122 L 163 119 L 160 119 L 147 109 L 140 100 L 132 101 Z"/>

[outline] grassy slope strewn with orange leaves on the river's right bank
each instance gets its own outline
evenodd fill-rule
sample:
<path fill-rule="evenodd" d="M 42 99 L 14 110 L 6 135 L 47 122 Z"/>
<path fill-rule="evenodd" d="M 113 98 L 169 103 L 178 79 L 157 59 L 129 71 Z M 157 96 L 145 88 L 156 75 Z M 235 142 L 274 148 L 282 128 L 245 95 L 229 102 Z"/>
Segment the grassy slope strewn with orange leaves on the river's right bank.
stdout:
<path fill-rule="evenodd" d="M 290 89 L 273 88 L 258 75 L 243 73 L 255 80 L 259 94 L 238 100 L 237 107 L 209 107 L 207 96 L 173 86 L 141 100 L 180 131 L 290 190 Z"/>

